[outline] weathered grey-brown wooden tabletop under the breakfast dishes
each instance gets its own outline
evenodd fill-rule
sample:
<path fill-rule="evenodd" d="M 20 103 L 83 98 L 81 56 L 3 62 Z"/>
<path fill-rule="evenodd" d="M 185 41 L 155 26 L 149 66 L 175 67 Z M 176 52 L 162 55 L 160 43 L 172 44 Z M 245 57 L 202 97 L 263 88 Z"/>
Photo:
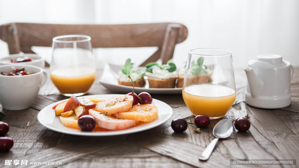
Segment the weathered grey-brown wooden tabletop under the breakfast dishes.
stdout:
<path fill-rule="evenodd" d="M 115 93 L 98 82 L 101 73 L 101 70 L 97 71 L 97 79 L 89 95 Z M 235 105 L 223 118 L 234 121 L 248 114 L 251 128 L 248 132 L 236 132 L 234 129 L 229 138 L 219 140 L 208 161 L 199 161 L 198 156 L 214 139 L 213 126 L 220 119 L 211 120 L 211 125 L 201 129 L 201 133 L 194 132 L 190 126 L 184 133 L 174 133 L 170 127 L 173 118 L 180 116 L 194 121 L 181 94 L 152 95 L 173 108 L 171 119 L 156 128 L 109 137 L 66 135 L 45 128 L 36 118 L 45 106 L 67 98 L 60 95 L 48 79 L 31 108 L 9 111 L 0 106 L 0 111 L 6 115 L 3 121 L 10 126 L 6 136 L 14 140 L 9 152 L 0 153 L 0 167 L 6 167 L 4 161 L 8 159 L 28 160 L 27 166 L 16 167 L 298 167 L 234 166 L 230 165 L 230 159 L 299 161 L 299 68 L 295 68 L 292 79 L 292 105 L 283 109 L 268 110 L 246 105 L 244 71 L 235 70 L 235 78 Z M 32 161 L 61 161 L 62 165 L 29 165 Z"/>

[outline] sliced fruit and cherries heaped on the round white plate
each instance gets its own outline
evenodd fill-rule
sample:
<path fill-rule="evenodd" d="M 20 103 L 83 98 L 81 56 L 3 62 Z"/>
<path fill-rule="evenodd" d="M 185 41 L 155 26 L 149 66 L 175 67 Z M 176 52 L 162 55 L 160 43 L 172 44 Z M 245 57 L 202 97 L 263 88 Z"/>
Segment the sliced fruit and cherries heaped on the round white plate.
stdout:
<path fill-rule="evenodd" d="M 127 129 L 159 118 L 152 97 L 146 92 L 137 95 L 134 88 L 132 93 L 111 98 L 84 97 L 79 102 L 72 96 L 53 109 L 64 126 L 83 131 L 92 131 L 95 126 L 106 130 Z"/>

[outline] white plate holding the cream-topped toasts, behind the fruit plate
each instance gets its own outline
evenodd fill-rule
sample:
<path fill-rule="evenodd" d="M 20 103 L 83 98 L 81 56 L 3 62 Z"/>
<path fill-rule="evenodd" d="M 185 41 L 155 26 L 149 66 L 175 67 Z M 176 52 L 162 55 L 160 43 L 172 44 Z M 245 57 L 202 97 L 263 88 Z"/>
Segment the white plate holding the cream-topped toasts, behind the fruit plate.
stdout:
<path fill-rule="evenodd" d="M 145 71 L 145 67 L 140 67 Z M 117 91 L 119 93 L 127 94 L 132 92 L 132 86 L 124 86 L 118 84 L 118 71 L 122 69 L 122 66 L 105 64 L 102 78 L 100 83 L 105 86 L 108 90 Z M 149 88 L 148 81 L 146 79 L 146 84 L 144 87 L 135 87 L 134 91 L 136 93 L 141 93 L 146 91 L 149 94 L 181 94 L 182 88 Z"/>

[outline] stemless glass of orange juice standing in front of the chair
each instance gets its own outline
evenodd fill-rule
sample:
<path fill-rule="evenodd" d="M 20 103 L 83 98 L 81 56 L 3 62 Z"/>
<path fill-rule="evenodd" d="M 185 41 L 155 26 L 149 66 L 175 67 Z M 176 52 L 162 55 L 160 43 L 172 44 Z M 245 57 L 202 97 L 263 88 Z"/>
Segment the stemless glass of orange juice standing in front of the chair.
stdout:
<path fill-rule="evenodd" d="M 64 96 L 86 94 L 95 80 L 95 59 L 90 40 L 86 35 L 53 38 L 50 76 Z"/>

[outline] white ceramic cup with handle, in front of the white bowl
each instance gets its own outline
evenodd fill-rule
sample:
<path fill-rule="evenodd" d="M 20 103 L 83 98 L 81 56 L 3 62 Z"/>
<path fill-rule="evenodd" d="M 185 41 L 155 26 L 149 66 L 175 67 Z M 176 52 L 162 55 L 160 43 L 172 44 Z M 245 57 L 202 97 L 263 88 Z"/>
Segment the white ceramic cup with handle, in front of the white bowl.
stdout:
<path fill-rule="evenodd" d="M 0 103 L 7 110 L 28 109 L 36 98 L 39 88 L 45 84 L 47 72 L 33 65 L 1 65 L 0 72 L 12 72 L 25 68 L 30 75 L 4 76 L 0 74 Z"/>

